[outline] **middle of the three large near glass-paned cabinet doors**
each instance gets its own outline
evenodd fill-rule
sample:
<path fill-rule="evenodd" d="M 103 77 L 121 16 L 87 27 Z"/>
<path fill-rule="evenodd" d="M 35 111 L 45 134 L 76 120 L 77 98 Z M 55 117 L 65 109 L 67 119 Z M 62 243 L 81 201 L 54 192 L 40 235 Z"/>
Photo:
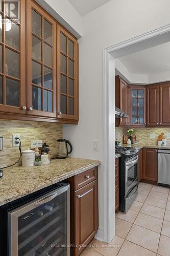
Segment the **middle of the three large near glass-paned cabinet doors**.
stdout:
<path fill-rule="evenodd" d="M 27 114 L 56 117 L 56 22 L 27 2 Z"/>

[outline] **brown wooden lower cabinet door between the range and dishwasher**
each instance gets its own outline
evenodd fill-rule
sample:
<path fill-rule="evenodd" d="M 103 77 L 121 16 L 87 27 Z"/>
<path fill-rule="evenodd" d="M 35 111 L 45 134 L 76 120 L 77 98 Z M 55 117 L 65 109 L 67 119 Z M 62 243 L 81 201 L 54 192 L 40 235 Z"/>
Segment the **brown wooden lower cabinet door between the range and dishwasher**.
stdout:
<path fill-rule="evenodd" d="M 143 148 L 142 181 L 157 184 L 158 151 L 156 148 Z"/>

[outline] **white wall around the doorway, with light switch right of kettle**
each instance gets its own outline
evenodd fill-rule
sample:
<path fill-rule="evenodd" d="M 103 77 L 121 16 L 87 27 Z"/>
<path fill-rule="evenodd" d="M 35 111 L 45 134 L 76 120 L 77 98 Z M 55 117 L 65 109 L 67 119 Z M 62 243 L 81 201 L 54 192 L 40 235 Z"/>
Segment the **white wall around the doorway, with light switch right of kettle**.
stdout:
<path fill-rule="evenodd" d="M 103 49 L 170 24 L 169 0 L 112 0 L 83 17 L 79 39 L 79 125 L 63 125 L 72 156 L 103 161 Z M 99 140 L 99 152 L 92 151 Z M 114 156 L 113 156 L 114 157 Z M 99 169 L 100 229 L 103 229 L 103 167 Z M 114 195 L 113 195 L 114 197 Z"/>

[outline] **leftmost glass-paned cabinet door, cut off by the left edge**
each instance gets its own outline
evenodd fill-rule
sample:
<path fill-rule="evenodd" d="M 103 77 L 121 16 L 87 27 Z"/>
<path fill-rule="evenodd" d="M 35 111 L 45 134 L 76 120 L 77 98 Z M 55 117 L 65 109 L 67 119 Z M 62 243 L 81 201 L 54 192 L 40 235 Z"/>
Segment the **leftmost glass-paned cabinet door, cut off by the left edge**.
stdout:
<path fill-rule="evenodd" d="M 26 114 L 26 1 L 0 1 L 0 112 Z"/>

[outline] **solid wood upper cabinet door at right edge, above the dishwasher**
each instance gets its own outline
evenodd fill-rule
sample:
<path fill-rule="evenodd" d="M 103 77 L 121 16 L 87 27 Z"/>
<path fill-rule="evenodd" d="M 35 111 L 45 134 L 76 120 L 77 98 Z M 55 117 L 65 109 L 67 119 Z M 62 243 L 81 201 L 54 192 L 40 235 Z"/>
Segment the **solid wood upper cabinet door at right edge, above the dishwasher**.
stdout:
<path fill-rule="evenodd" d="M 170 82 L 165 82 L 159 86 L 159 125 L 170 125 Z"/>

